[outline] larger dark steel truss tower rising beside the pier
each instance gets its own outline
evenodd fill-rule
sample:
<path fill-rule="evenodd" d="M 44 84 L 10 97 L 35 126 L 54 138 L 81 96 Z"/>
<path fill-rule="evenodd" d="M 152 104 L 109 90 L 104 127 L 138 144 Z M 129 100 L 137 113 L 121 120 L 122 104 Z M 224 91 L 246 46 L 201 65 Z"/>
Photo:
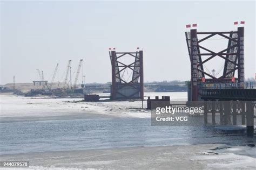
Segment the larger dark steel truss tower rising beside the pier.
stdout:
<path fill-rule="evenodd" d="M 198 40 L 199 34 L 205 37 Z M 214 52 L 201 45 L 201 42 L 217 35 L 228 40 L 227 48 Z M 207 84 L 214 84 L 215 88 L 225 88 L 227 84 L 233 84 L 233 88 L 244 88 L 244 27 L 240 26 L 237 31 L 228 32 L 198 32 L 192 28 L 190 32 L 185 32 L 185 36 L 191 61 L 191 93 L 188 100 L 200 100 L 201 89 L 207 87 Z M 206 53 L 200 53 L 200 49 Z M 224 59 L 225 62 L 223 74 L 219 77 L 204 70 L 204 63 L 216 57 Z M 205 76 L 209 78 L 206 79 Z"/>

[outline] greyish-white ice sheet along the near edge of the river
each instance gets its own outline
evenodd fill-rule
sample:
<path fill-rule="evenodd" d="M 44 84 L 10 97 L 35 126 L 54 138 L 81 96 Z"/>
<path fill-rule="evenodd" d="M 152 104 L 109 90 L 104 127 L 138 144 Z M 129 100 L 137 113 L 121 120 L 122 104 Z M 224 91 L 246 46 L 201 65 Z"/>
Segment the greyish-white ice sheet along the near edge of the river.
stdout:
<path fill-rule="evenodd" d="M 0 155 L 0 160 L 26 160 L 30 169 L 255 169 L 253 147 L 215 150 L 221 145 L 129 147 L 100 150 Z M 251 152 L 248 154 L 248 152 Z M 18 168 L 22 169 L 22 168 Z"/>

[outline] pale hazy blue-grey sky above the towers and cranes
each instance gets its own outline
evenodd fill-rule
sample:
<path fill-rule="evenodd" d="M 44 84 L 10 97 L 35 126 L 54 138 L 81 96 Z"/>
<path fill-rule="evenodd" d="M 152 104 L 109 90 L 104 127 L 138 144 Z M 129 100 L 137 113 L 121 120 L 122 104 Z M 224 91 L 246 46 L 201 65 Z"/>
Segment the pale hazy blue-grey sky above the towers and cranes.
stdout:
<path fill-rule="evenodd" d="M 109 47 L 144 49 L 144 80 L 189 80 L 186 24 L 198 31 L 235 30 L 245 20 L 245 76 L 255 72 L 255 2 L 1 2 L 1 82 L 32 82 L 36 69 L 56 80 L 68 60 L 75 70 L 84 59 L 86 82 L 111 81 Z M 212 40 L 218 47 L 221 39 Z M 225 42 L 226 43 L 226 42 Z M 223 47 L 226 48 L 226 44 Z M 220 51 L 219 50 L 219 51 Z M 221 60 L 223 61 L 223 60 Z M 216 60 L 208 69 L 219 70 Z M 80 82 L 80 80 L 79 80 Z"/>

